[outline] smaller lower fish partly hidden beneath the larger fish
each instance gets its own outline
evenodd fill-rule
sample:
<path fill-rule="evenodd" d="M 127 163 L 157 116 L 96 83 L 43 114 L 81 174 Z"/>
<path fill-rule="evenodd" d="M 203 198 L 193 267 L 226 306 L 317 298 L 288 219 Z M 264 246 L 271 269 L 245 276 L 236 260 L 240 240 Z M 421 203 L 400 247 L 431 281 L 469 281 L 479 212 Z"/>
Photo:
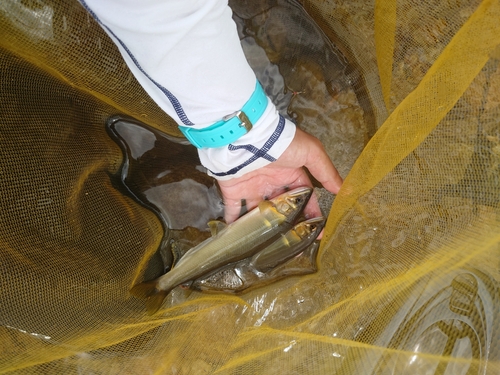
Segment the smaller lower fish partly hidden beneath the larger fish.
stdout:
<path fill-rule="evenodd" d="M 314 272 L 315 255 L 319 244 L 316 238 L 324 225 L 323 217 L 299 222 L 253 257 L 219 268 L 187 286 L 204 292 L 238 293 L 286 276 Z M 286 264 L 299 255 L 313 259 L 293 265 Z"/>

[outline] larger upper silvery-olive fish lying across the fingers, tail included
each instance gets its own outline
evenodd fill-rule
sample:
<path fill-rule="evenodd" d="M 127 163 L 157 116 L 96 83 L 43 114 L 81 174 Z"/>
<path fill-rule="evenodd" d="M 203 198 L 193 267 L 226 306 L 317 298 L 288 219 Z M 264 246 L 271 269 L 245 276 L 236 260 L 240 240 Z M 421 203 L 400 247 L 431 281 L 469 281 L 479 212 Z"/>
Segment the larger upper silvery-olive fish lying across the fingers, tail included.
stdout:
<path fill-rule="evenodd" d="M 130 293 L 145 299 L 149 315 L 156 313 L 170 291 L 228 263 L 253 256 L 262 246 L 286 232 L 304 209 L 312 188 L 300 187 L 259 205 L 188 250 L 177 264 L 159 278 L 135 285 Z"/>

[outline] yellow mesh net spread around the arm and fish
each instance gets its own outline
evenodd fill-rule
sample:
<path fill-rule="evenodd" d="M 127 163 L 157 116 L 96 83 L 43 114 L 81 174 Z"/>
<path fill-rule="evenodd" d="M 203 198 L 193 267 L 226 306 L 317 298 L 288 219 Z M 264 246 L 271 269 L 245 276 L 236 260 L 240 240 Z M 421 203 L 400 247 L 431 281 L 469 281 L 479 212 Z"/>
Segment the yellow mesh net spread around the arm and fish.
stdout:
<path fill-rule="evenodd" d="M 252 66 L 347 176 L 318 272 L 147 316 L 128 290 L 192 240 L 180 191 L 213 182 L 178 145 L 125 189 L 106 120 L 160 145 L 175 124 L 77 2 L 2 1 L 0 373 L 500 373 L 500 2 L 244 3 Z"/>

